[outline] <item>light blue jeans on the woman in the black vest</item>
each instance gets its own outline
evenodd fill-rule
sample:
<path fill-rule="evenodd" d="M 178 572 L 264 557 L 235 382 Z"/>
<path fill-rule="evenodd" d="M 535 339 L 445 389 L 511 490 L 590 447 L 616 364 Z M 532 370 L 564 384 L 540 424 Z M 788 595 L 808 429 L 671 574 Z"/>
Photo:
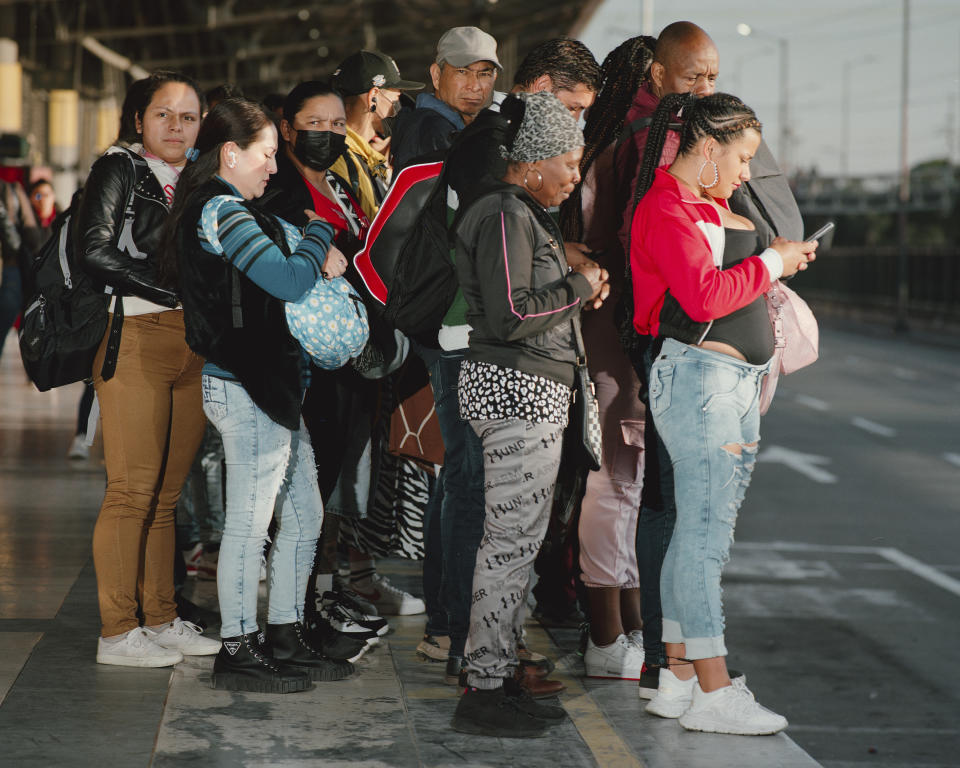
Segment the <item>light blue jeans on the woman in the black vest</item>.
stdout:
<path fill-rule="evenodd" d="M 227 510 L 217 565 L 222 637 L 256 632 L 260 556 L 274 508 L 267 622 L 303 620 L 307 578 L 323 519 L 317 468 L 303 422 L 291 432 L 261 411 L 241 384 L 203 376 L 203 412 L 223 439 Z"/>

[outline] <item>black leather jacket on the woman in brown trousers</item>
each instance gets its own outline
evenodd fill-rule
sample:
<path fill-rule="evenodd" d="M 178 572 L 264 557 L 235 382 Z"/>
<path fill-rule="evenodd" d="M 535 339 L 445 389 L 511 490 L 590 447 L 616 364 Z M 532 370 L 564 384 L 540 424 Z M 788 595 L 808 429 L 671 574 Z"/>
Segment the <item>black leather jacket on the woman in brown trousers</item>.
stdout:
<path fill-rule="evenodd" d="M 118 246 L 131 189 L 136 255 Z M 160 182 L 145 160 L 129 150 L 104 155 L 90 169 L 75 217 L 79 264 L 94 280 L 120 294 L 175 307 L 176 294 L 161 288 L 157 280 L 168 213 Z"/>

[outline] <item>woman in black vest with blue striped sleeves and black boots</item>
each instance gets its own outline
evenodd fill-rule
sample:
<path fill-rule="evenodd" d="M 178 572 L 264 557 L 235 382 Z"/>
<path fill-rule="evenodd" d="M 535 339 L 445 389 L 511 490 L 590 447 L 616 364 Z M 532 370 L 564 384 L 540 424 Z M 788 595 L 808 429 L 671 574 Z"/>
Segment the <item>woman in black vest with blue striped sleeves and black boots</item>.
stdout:
<path fill-rule="evenodd" d="M 303 626 L 323 504 L 300 415 L 307 360 L 284 302 L 342 275 L 347 262 L 331 245 L 333 227 L 312 210 L 301 235 L 249 204 L 277 170 L 277 129 L 263 107 L 218 102 L 197 149 L 180 181 L 165 259 L 168 274 L 179 275 L 187 343 L 206 359 L 203 411 L 223 438 L 227 466 L 217 566 L 223 647 L 212 681 L 233 691 L 302 691 L 311 679 L 342 679 L 353 666 L 318 651 Z M 275 507 L 261 633 L 260 555 Z"/>

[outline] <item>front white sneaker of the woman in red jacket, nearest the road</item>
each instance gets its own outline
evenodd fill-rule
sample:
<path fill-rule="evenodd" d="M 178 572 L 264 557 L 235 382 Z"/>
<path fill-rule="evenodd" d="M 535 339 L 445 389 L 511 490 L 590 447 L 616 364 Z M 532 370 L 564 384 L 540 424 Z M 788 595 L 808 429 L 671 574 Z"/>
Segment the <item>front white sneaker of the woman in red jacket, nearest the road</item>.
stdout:
<path fill-rule="evenodd" d="M 662 678 L 663 673 L 660 675 Z M 697 685 L 690 708 L 680 716 L 680 725 L 688 731 L 762 736 L 782 731 L 787 718 L 761 707 L 746 685 L 728 685 L 710 693 Z"/>

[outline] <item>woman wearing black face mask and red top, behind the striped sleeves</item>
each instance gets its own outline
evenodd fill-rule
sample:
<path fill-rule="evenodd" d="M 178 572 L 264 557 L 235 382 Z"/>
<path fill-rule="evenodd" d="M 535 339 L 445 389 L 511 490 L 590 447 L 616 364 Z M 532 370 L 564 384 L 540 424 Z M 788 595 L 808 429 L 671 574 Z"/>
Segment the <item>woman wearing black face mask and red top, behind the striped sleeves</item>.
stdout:
<path fill-rule="evenodd" d="M 290 91 L 280 121 L 283 141 L 276 156 L 277 173 L 260 204 L 300 227 L 307 222 L 304 209 L 314 211 L 333 226 L 334 244 L 350 263 L 362 246 L 372 214 L 365 213 L 347 175 L 331 168 L 345 150 L 346 126 L 343 100 L 326 83 L 300 83 Z M 344 276 L 359 280 L 350 266 Z M 342 612 L 328 608 L 318 611 L 316 599 L 333 588 L 340 517 L 366 514 L 366 498 L 372 490 L 367 445 L 378 387 L 379 382 L 362 378 L 349 365 L 336 371 L 311 367 L 303 402 L 303 420 L 314 445 L 317 479 L 327 512 L 308 583 L 304 625 L 313 647 L 339 660 L 356 660 L 376 637 L 376 631 L 369 631 L 369 623 L 349 623 Z M 386 625 L 382 619 L 376 621 L 375 629 Z"/>

